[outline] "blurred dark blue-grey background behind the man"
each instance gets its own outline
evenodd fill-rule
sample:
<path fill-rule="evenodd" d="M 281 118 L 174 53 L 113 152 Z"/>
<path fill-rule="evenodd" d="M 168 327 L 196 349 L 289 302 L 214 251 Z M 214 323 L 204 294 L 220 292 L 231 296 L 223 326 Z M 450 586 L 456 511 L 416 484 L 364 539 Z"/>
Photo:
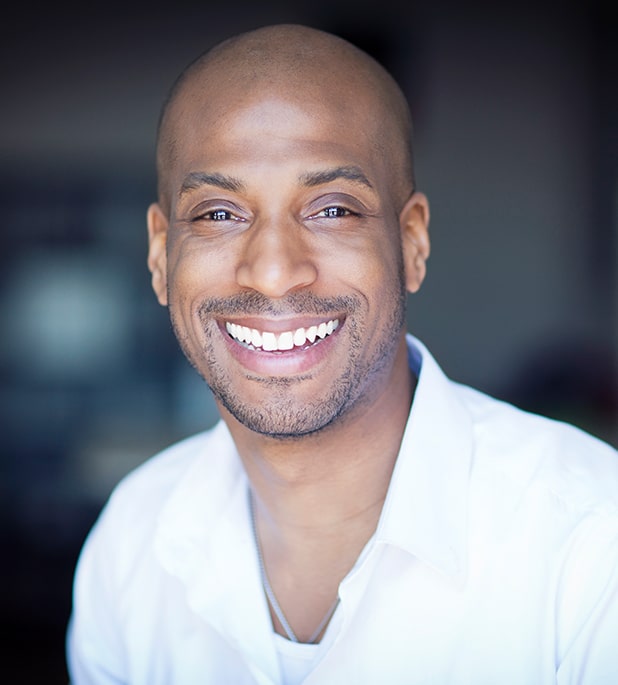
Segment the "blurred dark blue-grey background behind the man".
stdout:
<path fill-rule="evenodd" d="M 546 5 L 12 7 L 0 29 L 2 682 L 67 682 L 73 567 L 111 488 L 215 420 L 150 291 L 144 216 L 167 89 L 233 33 L 306 23 L 391 69 L 432 203 L 409 329 L 455 379 L 618 445 L 617 25 L 602 4 Z"/>

